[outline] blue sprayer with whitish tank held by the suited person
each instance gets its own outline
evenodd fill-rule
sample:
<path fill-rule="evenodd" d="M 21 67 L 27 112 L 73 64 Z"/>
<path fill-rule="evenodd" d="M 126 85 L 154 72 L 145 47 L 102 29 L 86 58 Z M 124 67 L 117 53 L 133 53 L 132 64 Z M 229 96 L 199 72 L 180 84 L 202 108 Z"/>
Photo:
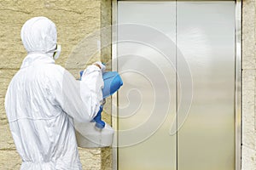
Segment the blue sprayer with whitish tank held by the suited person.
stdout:
<path fill-rule="evenodd" d="M 80 77 L 82 77 L 84 71 L 80 71 Z M 123 85 L 123 81 L 116 71 L 108 71 L 102 74 L 104 88 L 102 89 L 103 100 L 105 101 L 108 96 L 111 96 L 119 90 Z M 83 148 L 96 148 L 106 147 L 113 143 L 113 128 L 102 121 L 103 106 L 106 102 L 100 106 L 100 110 L 90 123 L 75 123 L 76 138 L 79 147 Z M 94 123 L 95 122 L 95 123 Z"/>

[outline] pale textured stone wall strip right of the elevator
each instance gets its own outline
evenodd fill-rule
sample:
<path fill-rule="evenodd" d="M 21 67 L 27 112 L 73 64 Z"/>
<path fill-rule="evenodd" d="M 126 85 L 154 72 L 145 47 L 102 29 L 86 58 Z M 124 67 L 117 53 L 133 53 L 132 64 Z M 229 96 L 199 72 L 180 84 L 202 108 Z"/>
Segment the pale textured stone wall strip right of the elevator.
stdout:
<path fill-rule="evenodd" d="M 242 170 L 256 169 L 255 0 L 242 2 Z"/>

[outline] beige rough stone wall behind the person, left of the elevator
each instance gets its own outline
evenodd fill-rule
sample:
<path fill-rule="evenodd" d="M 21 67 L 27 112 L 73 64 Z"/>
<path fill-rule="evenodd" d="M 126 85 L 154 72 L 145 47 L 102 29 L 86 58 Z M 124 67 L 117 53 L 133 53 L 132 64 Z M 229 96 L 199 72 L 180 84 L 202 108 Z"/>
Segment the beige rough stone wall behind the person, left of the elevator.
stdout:
<path fill-rule="evenodd" d="M 79 61 L 80 58 L 71 59 L 72 52 L 76 50 L 78 43 L 84 37 L 101 29 L 102 19 L 106 22 L 111 20 L 111 15 L 108 14 L 108 11 L 111 10 L 109 2 L 110 0 L 0 1 L 0 169 L 19 169 L 21 163 L 9 132 L 3 105 L 9 82 L 26 57 L 26 50 L 20 40 L 21 26 L 34 16 L 43 15 L 53 20 L 57 26 L 58 43 L 62 48 L 61 57 L 56 60 L 56 64 L 66 67 L 75 77 L 79 77 L 79 70 L 84 68 L 84 64 L 100 59 L 100 53 L 92 54 L 93 58 L 89 62 L 83 63 Z M 104 16 L 105 18 L 102 18 L 102 13 L 107 14 Z M 101 34 L 95 33 L 94 39 L 101 41 Z M 95 50 L 96 44 L 93 45 L 93 50 Z M 85 49 L 87 50 L 88 47 Z M 103 52 L 104 56 L 110 56 L 110 53 L 109 48 Z M 110 119 L 108 118 L 108 120 Z M 101 149 L 79 149 L 84 169 L 111 168 L 109 163 L 102 167 L 102 161 L 109 162 L 109 153 L 109 149 L 103 151 Z"/>

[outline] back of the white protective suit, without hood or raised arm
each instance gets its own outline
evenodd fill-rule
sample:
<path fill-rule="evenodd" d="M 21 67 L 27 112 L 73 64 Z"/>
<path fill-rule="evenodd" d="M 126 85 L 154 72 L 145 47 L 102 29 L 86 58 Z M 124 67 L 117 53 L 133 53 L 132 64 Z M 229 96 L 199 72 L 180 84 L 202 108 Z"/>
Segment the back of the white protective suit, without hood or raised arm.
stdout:
<path fill-rule="evenodd" d="M 21 169 L 81 169 L 73 120 L 55 99 L 64 69 L 47 56 L 26 60 L 5 99 Z"/>

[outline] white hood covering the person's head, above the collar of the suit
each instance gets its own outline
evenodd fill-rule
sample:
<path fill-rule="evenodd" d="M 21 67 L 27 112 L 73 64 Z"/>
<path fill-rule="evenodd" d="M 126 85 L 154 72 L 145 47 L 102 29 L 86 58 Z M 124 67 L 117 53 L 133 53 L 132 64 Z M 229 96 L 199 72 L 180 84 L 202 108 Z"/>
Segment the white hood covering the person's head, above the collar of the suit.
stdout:
<path fill-rule="evenodd" d="M 28 54 L 49 54 L 57 43 L 55 23 L 43 16 L 34 17 L 22 26 L 20 37 Z"/>

